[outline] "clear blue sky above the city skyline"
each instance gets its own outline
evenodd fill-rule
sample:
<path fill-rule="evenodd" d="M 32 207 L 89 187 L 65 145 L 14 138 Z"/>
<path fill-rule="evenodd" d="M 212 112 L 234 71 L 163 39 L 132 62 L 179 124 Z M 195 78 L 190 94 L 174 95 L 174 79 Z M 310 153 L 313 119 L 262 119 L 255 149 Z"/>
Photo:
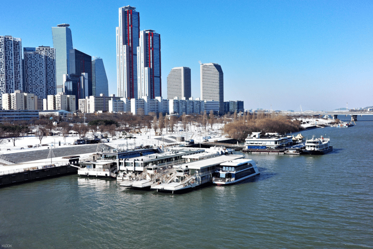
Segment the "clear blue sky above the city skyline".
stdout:
<path fill-rule="evenodd" d="M 119 7 L 134 6 L 140 30 L 161 35 L 162 96 L 174 67 L 218 63 L 224 101 L 245 109 L 332 110 L 373 106 L 373 1 L 18 0 L 1 3 L 0 36 L 53 47 L 51 27 L 68 23 L 75 49 L 101 57 L 117 95 Z"/>

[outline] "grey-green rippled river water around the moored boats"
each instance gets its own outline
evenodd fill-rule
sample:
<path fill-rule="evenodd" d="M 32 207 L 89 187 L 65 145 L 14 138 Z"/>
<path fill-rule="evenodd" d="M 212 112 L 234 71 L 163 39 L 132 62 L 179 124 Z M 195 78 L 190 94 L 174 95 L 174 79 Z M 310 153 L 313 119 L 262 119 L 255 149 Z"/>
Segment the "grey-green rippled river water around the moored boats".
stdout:
<path fill-rule="evenodd" d="M 373 248 L 373 117 L 302 135 L 330 137 L 334 151 L 246 154 L 258 163 L 260 176 L 184 195 L 125 190 L 116 180 L 76 175 L 1 188 L 0 244 Z"/>

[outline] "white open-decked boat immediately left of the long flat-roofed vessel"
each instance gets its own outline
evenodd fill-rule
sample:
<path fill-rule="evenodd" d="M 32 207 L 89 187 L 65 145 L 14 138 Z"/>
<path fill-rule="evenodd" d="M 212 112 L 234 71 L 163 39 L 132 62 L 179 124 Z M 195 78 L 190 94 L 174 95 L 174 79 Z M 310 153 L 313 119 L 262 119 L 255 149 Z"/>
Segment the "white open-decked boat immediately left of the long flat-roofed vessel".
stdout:
<path fill-rule="evenodd" d="M 163 176 L 170 176 L 176 172 L 175 168 L 158 167 L 157 165 L 149 165 L 146 169 L 135 178 L 129 178 L 120 182 L 120 186 L 139 189 L 149 190 L 153 183 L 160 181 Z"/>

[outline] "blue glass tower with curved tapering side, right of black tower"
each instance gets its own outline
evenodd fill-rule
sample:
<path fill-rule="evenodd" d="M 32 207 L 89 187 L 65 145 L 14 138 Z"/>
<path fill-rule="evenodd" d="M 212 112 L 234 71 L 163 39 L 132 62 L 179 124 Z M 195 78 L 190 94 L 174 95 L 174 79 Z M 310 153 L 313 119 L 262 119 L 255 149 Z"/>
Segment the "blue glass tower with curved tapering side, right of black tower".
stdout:
<path fill-rule="evenodd" d="M 106 71 L 101 58 L 92 60 L 92 95 L 100 96 L 103 93 L 109 96 Z"/>

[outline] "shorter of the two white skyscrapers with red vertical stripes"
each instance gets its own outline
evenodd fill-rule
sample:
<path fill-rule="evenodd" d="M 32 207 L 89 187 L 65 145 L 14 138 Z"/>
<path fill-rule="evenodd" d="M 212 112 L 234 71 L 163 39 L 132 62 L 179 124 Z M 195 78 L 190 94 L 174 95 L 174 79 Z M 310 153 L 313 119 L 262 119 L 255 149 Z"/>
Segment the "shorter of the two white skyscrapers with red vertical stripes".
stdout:
<path fill-rule="evenodd" d="M 140 32 L 137 47 L 137 96 L 154 99 L 162 96 L 161 36 L 153 30 Z"/>

